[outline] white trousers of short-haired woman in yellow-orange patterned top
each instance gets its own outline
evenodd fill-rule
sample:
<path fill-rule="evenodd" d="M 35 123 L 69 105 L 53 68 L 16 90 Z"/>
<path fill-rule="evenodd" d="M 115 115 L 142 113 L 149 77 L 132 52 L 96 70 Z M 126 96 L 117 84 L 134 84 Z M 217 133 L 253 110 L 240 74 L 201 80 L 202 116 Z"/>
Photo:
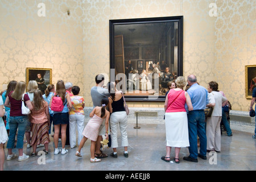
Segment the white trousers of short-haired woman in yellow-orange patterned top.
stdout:
<path fill-rule="evenodd" d="M 71 114 L 69 115 L 69 142 L 70 147 L 74 148 L 77 144 L 78 131 L 78 146 L 83 138 L 83 128 L 85 127 L 85 115 Z M 76 130 L 77 129 L 77 130 Z"/>

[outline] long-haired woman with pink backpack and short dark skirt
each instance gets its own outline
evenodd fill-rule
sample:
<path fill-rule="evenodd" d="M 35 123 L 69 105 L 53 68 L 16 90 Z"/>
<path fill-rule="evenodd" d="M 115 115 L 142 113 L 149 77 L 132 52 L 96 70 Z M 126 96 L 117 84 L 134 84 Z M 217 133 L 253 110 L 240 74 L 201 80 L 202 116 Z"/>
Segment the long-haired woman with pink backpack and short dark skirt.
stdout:
<path fill-rule="evenodd" d="M 61 101 L 59 101 L 61 98 Z M 56 102 L 55 102 L 56 101 Z M 66 92 L 64 81 L 58 80 L 56 84 L 56 92 L 51 97 L 50 108 L 53 113 L 53 125 L 54 125 L 54 154 L 57 155 L 61 152 L 62 155 L 68 151 L 65 149 L 66 144 L 66 129 L 69 123 L 69 109 L 72 108 L 70 95 Z M 56 109 L 57 108 L 57 109 Z M 59 109 L 59 110 L 58 110 Z M 60 131 L 61 128 L 61 131 Z M 61 132 L 62 150 L 58 149 L 59 132 Z M 69 136 L 68 136 L 69 137 Z"/>

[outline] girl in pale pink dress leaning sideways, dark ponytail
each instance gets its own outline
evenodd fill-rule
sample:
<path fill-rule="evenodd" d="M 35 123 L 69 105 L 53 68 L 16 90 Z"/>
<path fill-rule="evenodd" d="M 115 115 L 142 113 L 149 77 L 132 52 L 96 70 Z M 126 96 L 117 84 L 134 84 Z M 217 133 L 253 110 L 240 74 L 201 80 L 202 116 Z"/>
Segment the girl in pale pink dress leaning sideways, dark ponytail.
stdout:
<path fill-rule="evenodd" d="M 95 158 L 95 145 L 99 134 L 99 127 L 101 126 L 102 122 L 105 120 L 105 126 L 106 126 L 106 139 L 109 139 L 109 117 L 110 113 L 107 111 L 106 106 L 109 104 L 108 98 L 103 98 L 101 101 L 102 106 L 96 106 L 94 107 L 93 111 L 90 113 L 91 119 L 85 126 L 85 129 L 83 130 L 83 139 L 81 140 L 78 151 L 75 153 L 76 156 L 82 157 L 81 155 L 81 149 L 84 146 L 87 139 L 91 140 L 91 158 L 90 162 L 101 162 L 101 159 Z"/>

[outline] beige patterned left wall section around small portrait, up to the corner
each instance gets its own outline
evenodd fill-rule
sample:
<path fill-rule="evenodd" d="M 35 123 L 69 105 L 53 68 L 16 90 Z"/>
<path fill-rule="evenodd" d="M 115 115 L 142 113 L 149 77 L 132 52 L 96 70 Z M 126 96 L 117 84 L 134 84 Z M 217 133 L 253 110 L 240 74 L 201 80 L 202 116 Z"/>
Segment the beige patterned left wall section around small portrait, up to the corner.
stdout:
<path fill-rule="evenodd" d="M 1 0 L 1 89 L 26 81 L 26 68 L 49 68 L 54 85 L 61 79 L 83 90 L 83 17 L 81 1 Z"/>

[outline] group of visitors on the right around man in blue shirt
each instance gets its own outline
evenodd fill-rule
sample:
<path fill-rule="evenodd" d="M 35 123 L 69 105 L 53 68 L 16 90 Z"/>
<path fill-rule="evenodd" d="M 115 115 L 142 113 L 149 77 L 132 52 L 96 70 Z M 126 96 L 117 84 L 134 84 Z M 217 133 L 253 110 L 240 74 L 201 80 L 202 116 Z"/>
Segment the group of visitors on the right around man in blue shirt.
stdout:
<path fill-rule="evenodd" d="M 181 147 L 189 148 L 190 155 L 183 157 L 189 162 L 198 162 L 198 157 L 206 160 L 206 152 L 221 152 L 221 121 L 227 136 L 232 136 L 226 117 L 222 119 L 222 106 L 227 102 L 215 81 L 209 82 L 207 89 L 198 84 L 195 75 L 188 76 L 187 80 L 179 76 L 175 84 L 170 82 L 165 101 L 166 155 L 161 159 L 170 162 L 171 147 L 175 148 L 175 163 L 179 163 Z M 207 118 L 206 107 L 213 107 L 213 113 Z"/>

